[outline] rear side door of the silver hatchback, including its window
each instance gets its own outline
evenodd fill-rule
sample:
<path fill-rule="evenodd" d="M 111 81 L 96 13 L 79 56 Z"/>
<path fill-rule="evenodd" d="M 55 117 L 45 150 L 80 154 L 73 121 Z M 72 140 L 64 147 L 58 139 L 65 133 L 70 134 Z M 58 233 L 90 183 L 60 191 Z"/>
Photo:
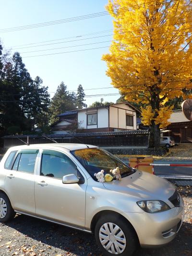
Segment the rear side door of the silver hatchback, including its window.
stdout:
<path fill-rule="evenodd" d="M 11 170 L 6 170 L 5 191 L 14 210 L 35 214 L 34 171 L 38 149 L 17 152 Z"/>

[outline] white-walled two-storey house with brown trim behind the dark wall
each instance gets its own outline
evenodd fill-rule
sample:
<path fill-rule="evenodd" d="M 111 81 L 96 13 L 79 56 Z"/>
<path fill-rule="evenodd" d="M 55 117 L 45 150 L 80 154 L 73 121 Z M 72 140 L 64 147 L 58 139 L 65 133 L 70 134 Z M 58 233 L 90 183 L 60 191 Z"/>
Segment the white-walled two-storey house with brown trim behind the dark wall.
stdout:
<path fill-rule="evenodd" d="M 51 125 L 51 130 L 54 134 L 64 134 L 75 125 L 85 133 L 136 130 L 138 112 L 128 102 L 66 111 L 58 115 L 59 120 Z"/>

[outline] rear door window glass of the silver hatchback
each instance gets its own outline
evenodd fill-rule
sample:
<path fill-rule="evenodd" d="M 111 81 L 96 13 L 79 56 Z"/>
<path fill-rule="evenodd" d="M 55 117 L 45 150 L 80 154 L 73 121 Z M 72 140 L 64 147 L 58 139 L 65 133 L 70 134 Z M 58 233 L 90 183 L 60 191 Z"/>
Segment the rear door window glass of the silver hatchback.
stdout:
<path fill-rule="evenodd" d="M 34 173 L 37 154 L 38 150 L 36 149 L 21 150 L 15 159 L 12 170 Z"/>

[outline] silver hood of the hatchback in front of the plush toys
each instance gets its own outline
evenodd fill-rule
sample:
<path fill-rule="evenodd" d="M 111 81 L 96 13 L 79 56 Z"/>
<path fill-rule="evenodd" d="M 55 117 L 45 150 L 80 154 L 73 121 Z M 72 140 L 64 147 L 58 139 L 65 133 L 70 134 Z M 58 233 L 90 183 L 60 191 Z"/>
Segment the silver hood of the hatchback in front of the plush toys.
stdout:
<path fill-rule="evenodd" d="M 104 187 L 119 193 L 134 196 L 138 200 L 162 200 L 175 192 L 175 187 L 163 178 L 145 171 L 135 171 L 121 181 L 103 183 Z"/>

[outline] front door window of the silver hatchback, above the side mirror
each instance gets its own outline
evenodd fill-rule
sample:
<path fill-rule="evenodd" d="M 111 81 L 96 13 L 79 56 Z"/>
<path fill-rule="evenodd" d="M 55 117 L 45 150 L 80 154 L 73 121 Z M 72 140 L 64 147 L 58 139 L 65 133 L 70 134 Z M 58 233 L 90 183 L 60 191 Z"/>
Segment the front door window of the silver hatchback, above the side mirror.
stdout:
<path fill-rule="evenodd" d="M 62 179 L 64 175 L 78 175 L 76 165 L 65 154 L 45 149 L 42 152 L 40 175 Z"/>

